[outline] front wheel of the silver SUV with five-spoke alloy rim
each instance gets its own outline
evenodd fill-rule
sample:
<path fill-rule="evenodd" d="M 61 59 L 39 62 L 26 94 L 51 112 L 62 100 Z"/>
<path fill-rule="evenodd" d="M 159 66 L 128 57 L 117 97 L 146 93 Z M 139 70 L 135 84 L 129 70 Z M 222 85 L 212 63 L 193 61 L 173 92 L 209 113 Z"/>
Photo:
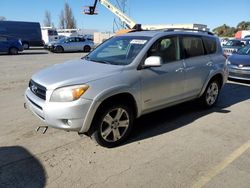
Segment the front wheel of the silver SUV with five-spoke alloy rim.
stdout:
<path fill-rule="evenodd" d="M 104 107 L 94 120 L 94 132 L 91 135 L 99 145 L 115 147 L 126 140 L 131 132 L 134 114 L 126 105 Z"/>

